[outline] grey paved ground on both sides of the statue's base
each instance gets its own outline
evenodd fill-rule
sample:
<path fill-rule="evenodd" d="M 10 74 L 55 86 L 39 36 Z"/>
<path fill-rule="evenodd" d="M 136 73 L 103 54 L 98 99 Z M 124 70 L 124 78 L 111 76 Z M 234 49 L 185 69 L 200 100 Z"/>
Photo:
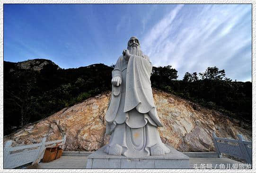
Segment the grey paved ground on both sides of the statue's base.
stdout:
<path fill-rule="evenodd" d="M 61 158 L 54 160 L 49 163 L 39 163 L 37 166 L 28 166 L 27 169 L 85 169 L 87 163 L 87 156 L 62 156 Z M 194 169 L 195 165 L 197 168 L 200 168 L 201 164 L 205 164 L 205 166 L 212 166 L 212 169 L 220 169 L 220 166 L 230 165 L 232 164 L 241 164 L 238 161 L 231 160 L 229 158 L 189 158 L 189 167 L 190 169 Z M 210 168 L 211 169 L 211 168 Z M 222 168 L 223 169 L 223 168 Z"/>

